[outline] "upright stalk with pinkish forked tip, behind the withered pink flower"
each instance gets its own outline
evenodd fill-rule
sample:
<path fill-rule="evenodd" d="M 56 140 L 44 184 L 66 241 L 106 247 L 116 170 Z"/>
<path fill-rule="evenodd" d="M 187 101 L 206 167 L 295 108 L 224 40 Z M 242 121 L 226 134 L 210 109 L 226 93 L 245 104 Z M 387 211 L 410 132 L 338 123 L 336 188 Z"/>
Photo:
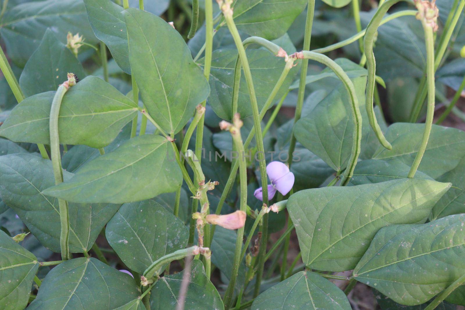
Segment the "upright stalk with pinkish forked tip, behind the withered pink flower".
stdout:
<path fill-rule="evenodd" d="M 236 150 L 239 154 L 244 153 L 244 145 L 242 144 L 242 137 L 240 134 L 240 127 L 241 121 L 239 119 L 234 119 L 234 125 L 230 125 L 229 132 L 233 136 L 233 142 Z M 239 162 L 239 184 L 240 184 L 240 204 L 239 209 L 241 211 L 246 212 L 247 209 L 247 166 L 246 161 L 243 156 L 239 156 L 237 159 Z M 234 287 L 236 284 L 237 274 L 239 272 L 239 265 L 242 261 L 243 256 L 242 253 L 242 239 L 244 238 L 244 227 L 241 227 L 237 230 L 237 238 L 236 238 L 236 248 L 234 250 L 234 259 L 233 259 L 233 268 L 231 270 L 231 278 L 229 280 L 228 287 L 225 292 L 225 296 L 223 298 L 223 303 L 225 304 L 226 309 L 232 303 L 233 294 L 234 294 Z"/>

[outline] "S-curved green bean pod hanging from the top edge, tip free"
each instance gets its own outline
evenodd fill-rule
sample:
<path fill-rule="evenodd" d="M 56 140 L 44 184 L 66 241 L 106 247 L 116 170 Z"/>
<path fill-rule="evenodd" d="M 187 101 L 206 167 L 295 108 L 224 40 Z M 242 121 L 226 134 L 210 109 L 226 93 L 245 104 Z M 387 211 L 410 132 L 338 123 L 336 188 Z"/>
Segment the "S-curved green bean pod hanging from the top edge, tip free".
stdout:
<path fill-rule="evenodd" d="M 376 75 L 376 61 L 373 53 L 373 43 L 378 31 L 378 27 L 383 20 L 385 13 L 396 3 L 405 0 L 387 0 L 381 5 L 373 16 L 372 20 L 366 27 L 365 37 L 363 40 L 363 46 L 366 55 L 366 66 L 368 68 L 368 79 L 366 82 L 366 96 L 365 96 L 365 108 L 366 114 L 368 114 L 368 121 L 370 126 L 376 134 L 381 145 L 386 149 L 391 150 L 392 145 L 386 140 L 381 128 L 379 127 L 378 121 L 373 108 L 373 94 L 375 90 L 375 75 Z"/>

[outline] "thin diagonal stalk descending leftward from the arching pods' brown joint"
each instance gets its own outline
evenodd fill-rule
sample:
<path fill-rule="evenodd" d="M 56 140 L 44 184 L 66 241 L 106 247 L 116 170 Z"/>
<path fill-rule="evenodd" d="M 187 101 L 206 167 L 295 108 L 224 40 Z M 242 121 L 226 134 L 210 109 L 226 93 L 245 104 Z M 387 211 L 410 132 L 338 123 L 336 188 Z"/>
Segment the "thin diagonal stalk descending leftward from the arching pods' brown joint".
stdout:
<path fill-rule="evenodd" d="M 276 97 L 276 94 L 278 93 L 279 89 L 283 85 L 284 80 L 287 77 L 287 74 L 292 69 L 293 63 L 294 63 L 293 59 L 288 59 L 288 61 L 286 62 L 286 66 L 284 67 L 283 72 L 281 73 L 281 76 L 279 77 L 278 81 L 276 82 L 276 85 L 273 87 L 270 95 L 266 99 L 265 105 L 260 111 L 260 115 L 259 115 L 260 121 L 263 119 L 263 117 L 266 114 L 266 111 L 268 111 L 272 102 L 274 101 L 274 98 Z M 249 147 L 250 142 L 252 141 L 254 135 L 255 135 L 255 131 L 254 131 L 254 127 L 252 127 L 251 131 L 249 132 L 249 135 L 247 136 L 246 143 L 244 144 L 244 149 L 247 149 Z M 221 209 L 223 208 L 223 204 L 225 203 L 226 197 L 227 195 L 229 195 L 229 191 L 231 190 L 231 187 L 233 186 L 233 183 L 236 179 L 236 172 L 237 172 L 238 167 L 239 167 L 239 163 L 235 160 L 233 162 L 233 166 L 231 167 L 231 172 L 229 173 L 228 180 L 226 181 L 225 190 L 221 193 L 221 197 L 219 198 L 219 202 L 216 207 L 216 214 L 220 214 Z M 213 238 L 213 234 L 215 233 L 215 228 L 216 226 L 213 225 L 212 231 L 211 231 L 212 238 Z"/>

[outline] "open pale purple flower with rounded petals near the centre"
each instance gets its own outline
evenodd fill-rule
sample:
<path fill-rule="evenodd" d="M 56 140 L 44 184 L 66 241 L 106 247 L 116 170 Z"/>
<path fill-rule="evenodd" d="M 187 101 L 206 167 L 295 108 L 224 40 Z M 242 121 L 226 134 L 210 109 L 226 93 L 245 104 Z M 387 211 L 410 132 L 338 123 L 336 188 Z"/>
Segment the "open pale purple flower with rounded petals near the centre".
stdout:
<path fill-rule="evenodd" d="M 276 191 L 286 195 L 294 185 L 294 174 L 289 171 L 289 167 L 280 161 L 272 161 L 266 166 L 266 174 L 270 178 L 268 185 L 268 199 L 272 199 Z M 255 198 L 263 201 L 263 189 L 260 187 L 253 193 Z"/>

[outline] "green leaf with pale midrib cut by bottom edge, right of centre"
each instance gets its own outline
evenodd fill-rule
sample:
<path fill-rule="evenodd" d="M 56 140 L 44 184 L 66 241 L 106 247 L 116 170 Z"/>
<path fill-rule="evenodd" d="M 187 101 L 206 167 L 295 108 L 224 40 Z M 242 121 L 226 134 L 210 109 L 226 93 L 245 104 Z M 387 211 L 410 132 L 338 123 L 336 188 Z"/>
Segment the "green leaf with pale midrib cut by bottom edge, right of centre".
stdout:
<path fill-rule="evenodd" d="M 342 290 L 311 271 L 300 271 L 261 293 L 253 310 L 352 309 Z"/>

